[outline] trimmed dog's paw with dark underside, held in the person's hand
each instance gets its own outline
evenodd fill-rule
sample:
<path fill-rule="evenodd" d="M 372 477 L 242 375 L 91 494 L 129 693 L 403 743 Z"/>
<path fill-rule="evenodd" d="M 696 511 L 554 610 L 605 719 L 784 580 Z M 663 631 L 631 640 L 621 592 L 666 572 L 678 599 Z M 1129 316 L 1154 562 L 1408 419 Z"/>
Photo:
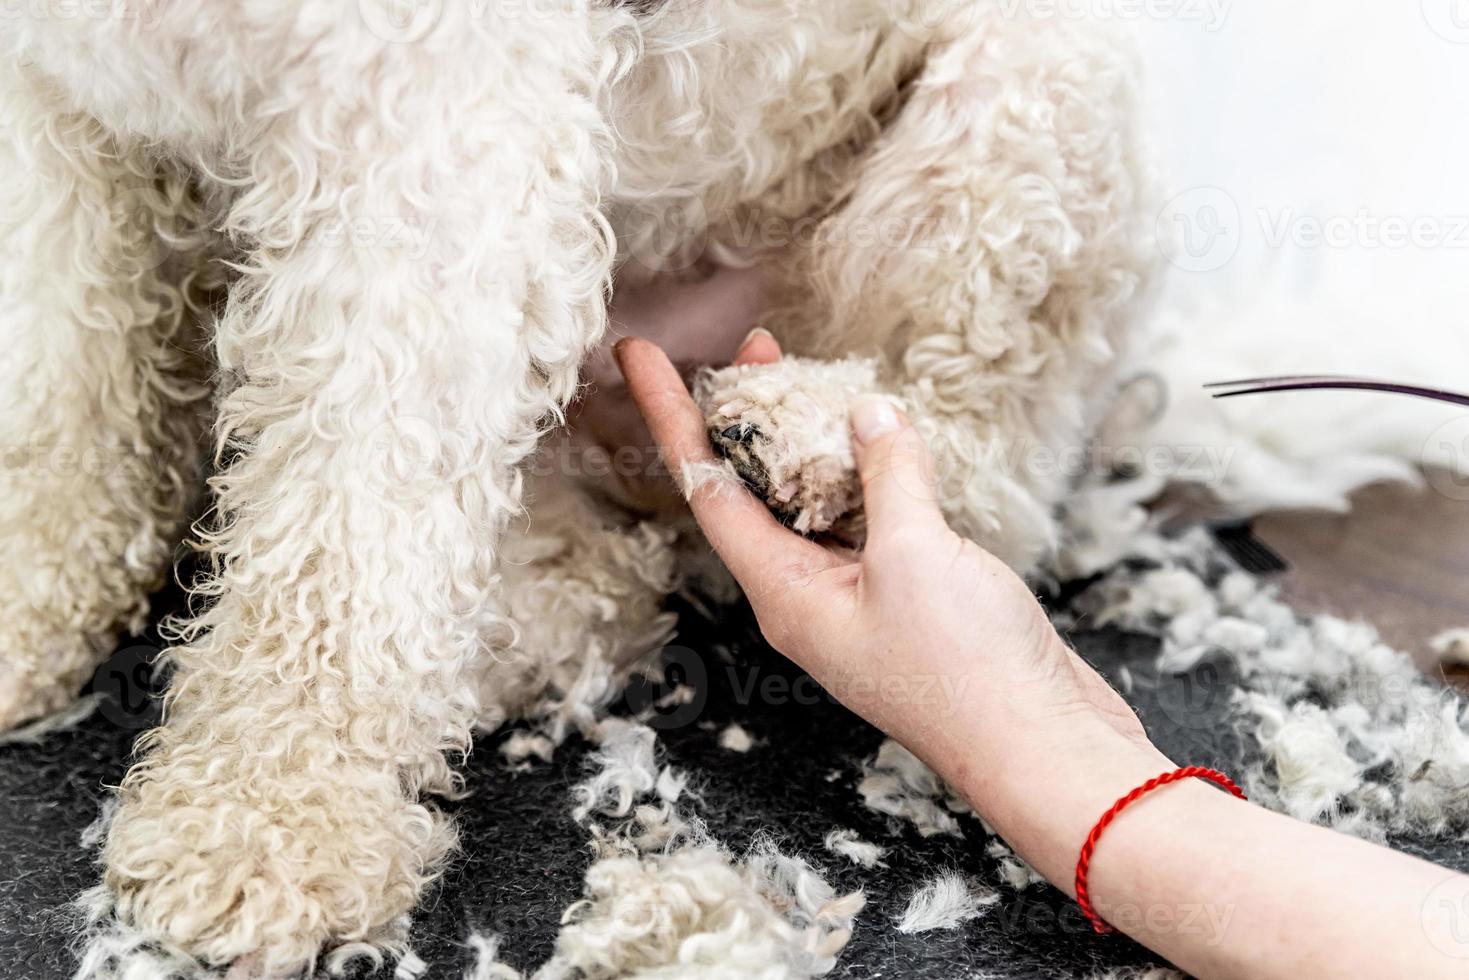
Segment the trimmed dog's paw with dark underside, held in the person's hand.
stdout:
<path fill-rule="evenodd" d="M 751 489 L 795 530 L 821 533 L 861 510 L 848 417 L 877 391 L 871 361 L 783 357 L 701 372 L 693 397 Z"/>

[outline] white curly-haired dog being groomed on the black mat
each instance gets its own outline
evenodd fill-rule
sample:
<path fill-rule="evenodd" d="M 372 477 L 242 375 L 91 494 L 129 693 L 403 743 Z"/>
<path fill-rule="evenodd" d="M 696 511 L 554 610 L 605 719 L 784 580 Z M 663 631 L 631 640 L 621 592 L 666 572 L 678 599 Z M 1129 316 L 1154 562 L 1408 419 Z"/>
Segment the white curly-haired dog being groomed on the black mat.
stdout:
<path fill-rule="evenodd" d="M 542 438 L 614 278 L 758 266 L 790 353 L 871 359 L 924 420 L 956 527 L 1046 554 L 1036 451 L 1084 438 L 1147 263 L 1130 56 L 1031 6 L 6 13 L 0 729 L 142 624 L 213 473 L 106 843 L 120 923 L 269 976 L 385 942 L 472 730 L 589 730 L 667 636 L 677 527 Z"/>

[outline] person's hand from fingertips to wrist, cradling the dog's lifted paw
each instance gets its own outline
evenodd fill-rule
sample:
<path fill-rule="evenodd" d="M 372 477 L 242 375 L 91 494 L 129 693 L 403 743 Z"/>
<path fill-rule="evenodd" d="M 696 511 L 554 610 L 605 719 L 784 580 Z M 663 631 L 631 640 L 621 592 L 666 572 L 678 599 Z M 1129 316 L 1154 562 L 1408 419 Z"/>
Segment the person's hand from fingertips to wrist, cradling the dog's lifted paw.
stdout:
<path fill-rule="evenodd" d="M 616 353 L 668 467 L 715 463 L 704 416 L 663 351 L 629 339 Z M 949 529 L 927 447 L 900 413 L 874 398 L 852 429 L 861 554 L 793 533 L 740 488 L 705 483 L 689 497 L 765 639 L 955 786 L 1099 733 L 1147 746 L 1137 717 L 1061 641 L 1025 583 Z"/>

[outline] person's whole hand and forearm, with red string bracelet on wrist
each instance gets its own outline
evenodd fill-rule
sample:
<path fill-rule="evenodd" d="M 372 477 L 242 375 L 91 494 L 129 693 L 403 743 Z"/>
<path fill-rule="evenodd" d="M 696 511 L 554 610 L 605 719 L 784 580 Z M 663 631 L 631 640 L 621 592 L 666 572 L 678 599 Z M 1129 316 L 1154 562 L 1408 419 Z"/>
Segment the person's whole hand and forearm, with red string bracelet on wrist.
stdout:
<path fill-rule="evenodd" d="M 616 354 L 668 467 L 715 463 L 704 416 L 663 351 L 623 341 Z M 852 430 L 868 525 L 861 554 L 801 538 L 729 480 L 687 488 L 693 516 L 776 649 L 1074 893 L 1097 817 L 1175 765 L 1024 582 L 949 529 L 912 426 L 874 400 L 853 411 Z M 927 688 L 937 704 L 920 696 L 923 680 L 937 683 Z M 1187 780 L 1128 808 L 1089 883 L 1103 917 L 1116 912 L 1118 927 L 1193 976 L 1447 979 L 1462 968 L 1425 942 L 1421 921 L 1425 896 L 1469 887 L 1447 874 Z M 1215 926 L 1200 929 L 1199 917 Z"/>

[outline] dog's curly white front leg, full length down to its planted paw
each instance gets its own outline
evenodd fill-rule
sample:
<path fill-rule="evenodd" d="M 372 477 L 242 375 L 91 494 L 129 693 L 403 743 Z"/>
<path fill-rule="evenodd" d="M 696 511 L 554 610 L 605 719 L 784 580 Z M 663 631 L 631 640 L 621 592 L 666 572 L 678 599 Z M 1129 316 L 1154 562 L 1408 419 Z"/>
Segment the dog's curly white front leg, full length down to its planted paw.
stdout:
<path fill-rule="evenodd" d="M 391 940 L 454 843 L 422 795 L 455 788 L 517 467 L 604 322 L 573 7 L 445 10 L 322 82 L 231 213 L 257 247 L 219 325 L 207 608 L 104 855 L 119 918 L 207 962 L 276 977 Z"/>

